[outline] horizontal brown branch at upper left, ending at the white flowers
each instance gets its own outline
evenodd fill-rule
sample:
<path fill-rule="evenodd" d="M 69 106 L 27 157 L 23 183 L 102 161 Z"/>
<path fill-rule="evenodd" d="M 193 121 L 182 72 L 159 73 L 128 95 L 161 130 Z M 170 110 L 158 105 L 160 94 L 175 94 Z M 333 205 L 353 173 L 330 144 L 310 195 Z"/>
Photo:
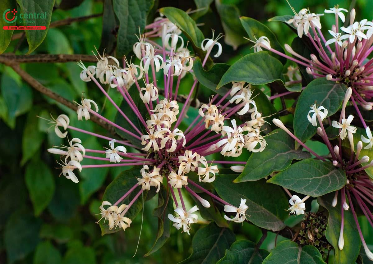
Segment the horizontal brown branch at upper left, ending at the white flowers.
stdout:
<path fill-rule="evenodd" d="M 94 55 L 85 54 L 35 54 L 35 55 L 15 55 L 4 53 L 0 55 L 0 63 L 31 63 L 31 62 L 97 62 Z"/>

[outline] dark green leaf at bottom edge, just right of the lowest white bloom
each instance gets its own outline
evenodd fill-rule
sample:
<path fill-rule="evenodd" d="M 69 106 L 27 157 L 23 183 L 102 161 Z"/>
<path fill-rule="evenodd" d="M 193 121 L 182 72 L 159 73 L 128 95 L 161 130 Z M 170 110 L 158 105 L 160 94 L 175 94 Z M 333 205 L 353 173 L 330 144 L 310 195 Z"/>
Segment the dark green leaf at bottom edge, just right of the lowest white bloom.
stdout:
<path fill-rule="evenodd" d="M 195 233 L 192 254 L 181 263 L 216 263 L 234 241 L 235 235 L 230 229 L 210 223 Z"/>

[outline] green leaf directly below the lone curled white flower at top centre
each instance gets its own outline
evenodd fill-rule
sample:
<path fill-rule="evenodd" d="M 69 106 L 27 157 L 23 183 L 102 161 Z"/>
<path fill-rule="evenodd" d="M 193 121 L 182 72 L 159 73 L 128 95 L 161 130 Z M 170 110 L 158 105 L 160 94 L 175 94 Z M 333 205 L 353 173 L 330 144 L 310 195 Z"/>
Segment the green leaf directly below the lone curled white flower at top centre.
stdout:
<path fill-rule="evenodd" d="M 217 90 L 216 87 L 229 67 L 230 65 L 225 63 L 216 63 L 211 67 L 211 69 L 204 70 L 202 67 L 201 59 L 197 57 L 193 64 L 193 71 L 195 77 L 202 85 L 220 95 L 225 95 L 228 92 L 228 88 L 223 87 Z"/>

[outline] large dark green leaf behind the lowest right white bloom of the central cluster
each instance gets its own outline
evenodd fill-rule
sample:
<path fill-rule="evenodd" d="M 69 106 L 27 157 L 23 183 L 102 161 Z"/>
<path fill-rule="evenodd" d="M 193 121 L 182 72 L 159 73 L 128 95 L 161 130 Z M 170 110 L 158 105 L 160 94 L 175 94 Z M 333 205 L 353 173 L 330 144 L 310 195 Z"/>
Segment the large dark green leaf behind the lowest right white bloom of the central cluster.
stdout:
<path fill-rule="evenodd" d="M 283 229 L 285 224 L 282 220 L 288 216 L 283 209 L 288 207 L 288 199 L 283 191 L 278 186 L 267 184 L 265 180 L 233 183 L 236 177 L 235 174 L 216 177 L 213 185 L 219 196 L 234 206 L 239 205 L 241 198 L 247 199 L 248 221 L 273 231 Z"/>

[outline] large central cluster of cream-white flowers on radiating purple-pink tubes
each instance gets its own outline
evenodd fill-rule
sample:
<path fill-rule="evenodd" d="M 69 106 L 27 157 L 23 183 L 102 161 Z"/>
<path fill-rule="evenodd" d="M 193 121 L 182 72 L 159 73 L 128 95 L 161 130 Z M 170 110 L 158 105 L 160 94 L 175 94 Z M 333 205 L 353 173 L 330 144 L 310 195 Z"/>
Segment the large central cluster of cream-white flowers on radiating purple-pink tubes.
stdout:
<path fill-rule="evenodd" d="M 113 205 L 109 201 L 103 201 L 100 207 L 101 219 L 104 219 L 104 223 L 106 220 L 109 221 L 109 229 L 119 226 L 125 230 L 129 227 L 131 219 L 125 217 L 125 214 L 131 210 L 131 206 L 144 191 L 149 191 L 153 187 L 156 188 L 156 192 L 165 188 L 167 193 L 172 195 L 176 208 L 175 213 L 178 216 L 169 214 L 168 218 L 174 222 L 173 225 L 176 229 L 182 229 L 182 232 L 189 234 L 191 224 L 198 220 L 197 214 L 193 213 L 199 208 L 195 205 L 187 210 L 183 200 L 183 192 L 195 197 L 202 206 L 210 207 L 210 203 L 206 199 L 201 198 L 189 188 L 190 185 L 223 204 L 224 211 L 229 215 L 235 214 L 232 218 L 225 216 L 225 219 L 241 223 L 247 219 L 245 211 L 248 207 L 245 205 L 245 199 L 241 198 L 241 203 L 236 207 L 191 180 L 189 173 L 197 173 L 199 182 L 210 183 L 218 176 L 219 164 L 230 164 L 233 171 L 240 172 L 242 171 L 240 164 L 245 164 L 245 162 L 211 161 L 208 160 L 209 155 L 220 153 L 223 156 L 238 157 L 245 149 L 252 152 L 264 150 L 266 141 L 261 135 L 261 128 L 265 123 L 265 117 L 258 111 L 256 102 L 253 100 L 254 91 L 250 85 L 245 85 L 244 82 L 233 82 L 232 88 L 225 95 L 214 95 L 210 98 L 209 103 L 202 104 L 199 107 L 198 116 L 188 128 L 182 131 L 179 129 L 179 125 L 186 116 L 198 80 L 194 78 L 189 94 L 185 97 L 180 97 L 179 86 L 181 79 L 186 74 L 193 74 L 194 57 L 191 56 L 191 51 L 184 47 L 184 40 L 180 35 L 179 28 L 168 19 L 157 18 L 145 29 L 147 32 L 138 36 L 138 42 L 133 46 L 133 52 L 139 60 L 139 64 L 124 59 L 124 65 L 120 67 L 116 58 L 104 54 L 102 56 L 98 54 L 98 62 L 95 66 L 86 67 L 82 62 L 78 62 L 82 68 L 80 73 L 82 81 L 93 81 L 117 109 L 118 115 L 123 116 L 132 129 L 129 131 L 128 128 L 103 117 L 98 113 L 97 104 L 87 98 L 82 98 L 81 104 L 78 104 L 78 120 L 83 120 L 83 117 L 85 120 L 90 120 L 92 114 L 131 136 L 137 141 L 137 144 L 132 144 L 133 141 L 113 139 L 69 126 L 68 117 L 61 115 L 52 120 L 58 136 L 65 138 L 68 133 L 66 130 L 71 129 L 105 139 L 109 141 L 110 148 L 106 148 L 107 150 L 104 151 L 85 149 L 80 140 L 74 138 L 67 151 L 51 149 L 50 152 L 67 155 L 71 158 L 62 167 L 62 173 L 74 182 L 78 182 L 73 173 L 74 169 L 81 171 L 95 167 L 141 166 L 138 171 L 137 183 L 132 188 Z M 222 46 L 217 42 L 221 37 L 222 35 L 218 35 L 214 38 L 213 32 L 211 39 L 202 41 L 201 48 L 206 51 L 202 66 L 206 64 L 213 47 L 217 46 L 218 49 L 214 57 L 218 57 L 222 53 Z M 161 38 L 162 45 L 157 44 L 153 38 Z M 163 80 L 159 81 L 156 76 L 157 72 L 162 73 L 161 70 L 163 70 Z M 102 85 L 110 85 L 111 88 L 116 89 L 123 97 L 123 102 L 128 104 L 136 115 L 142 128 L 137 127 L 133 120 L 120 109 Z M 140 113 L 137 102 L 128 92 L 132 85 L 136 87 L 132 89 L 138 90 L 140 99 L 146 108 L 149 117 L 147 120 L 144 118 L 145 115 Z M 185 98 L 184 104 L 178 103 L 180 98 Z M 240 119 L 247 118 L 247 122 L 239 124 L 236 119 L 229 120 L 233 115 L 240 117 Z M 63 128 L 64 132 L 61 132 L 60 128 Z M 141 131 L 145 131 L 145 133 Z M 72 142 L 77 143 L 72 144 Z M 138 147 L 138 145 L 142 147 Z M 127 148 L 131 148 L 131 151 L 134 152 L 128 152 Z M 85 155 L 85 152 L 101 154 L 105 157 Z M 107 163 L 82 165 L 81 163 L 84 163 L 83 157 Z M 128 202 L 128 205 L 123 204 L 124 199 L 128 198 L 138 187 L 140 190 Z M 178 192 L 179 200 L 176 199 L 175 191 Z"/>

